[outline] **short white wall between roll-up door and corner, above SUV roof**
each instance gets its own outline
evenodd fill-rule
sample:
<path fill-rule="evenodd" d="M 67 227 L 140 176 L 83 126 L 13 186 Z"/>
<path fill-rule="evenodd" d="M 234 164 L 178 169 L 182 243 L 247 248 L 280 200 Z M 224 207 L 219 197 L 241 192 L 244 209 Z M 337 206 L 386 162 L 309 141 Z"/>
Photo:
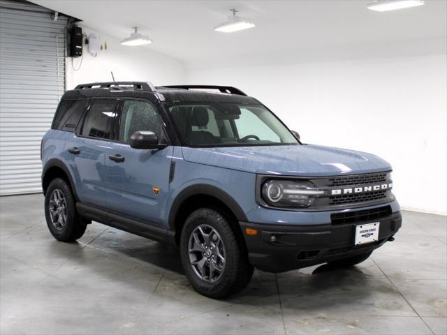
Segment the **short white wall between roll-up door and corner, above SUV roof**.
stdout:
<path fill-rule="evenodd" d="M 84 45 L 82 64 L 80 57 L 66 61 L 66 88 L 73 89 L 78 84 L 88 82 L 112 81 L 110 71 L 113 71 L 115 80 L 143 81 L 159 84 L 177 84 L 184 82 L 184 64 L 173 57 L 150 50 L 149 46 L 129 47 L 120 45 L 117 38 L 83 28 L 82 32 L 95 33 L 99 36 L 101 44 L 107 43 L 107 50 L 102 50 L 97 57 L 88 52 Z M 80 65 L 80 69 L 78 69 Z M 74 69 L 73 69 L 74 68 Z"/>

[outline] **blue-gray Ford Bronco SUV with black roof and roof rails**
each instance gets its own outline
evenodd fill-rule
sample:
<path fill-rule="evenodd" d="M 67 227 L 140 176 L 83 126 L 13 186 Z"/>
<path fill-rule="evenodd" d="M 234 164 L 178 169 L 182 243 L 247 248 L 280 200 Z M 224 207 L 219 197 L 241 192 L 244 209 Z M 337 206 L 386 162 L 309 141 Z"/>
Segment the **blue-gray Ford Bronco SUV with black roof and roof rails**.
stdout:
<path fill-rule="evenodd" d="M 391 166 L 304 144 L 234 87 L 82 84 L 42 140 L 48 228 L 59 241 L 91 221 L 179 246 L 207 297 L 242 290 L 254 267 L 349 267 L 400 229 Z"/>

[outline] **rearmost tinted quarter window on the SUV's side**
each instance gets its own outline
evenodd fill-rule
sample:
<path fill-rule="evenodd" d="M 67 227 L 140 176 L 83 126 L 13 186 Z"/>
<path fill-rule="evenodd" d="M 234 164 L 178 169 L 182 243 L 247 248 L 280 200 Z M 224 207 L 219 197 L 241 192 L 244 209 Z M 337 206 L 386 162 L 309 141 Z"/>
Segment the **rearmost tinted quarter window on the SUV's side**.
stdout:
<path fill-rule="evenodd" d="M 75 131 L 86 106 L 85 100 L 62 100 L 57 107 L 51 128 L 59 131 Z"/>

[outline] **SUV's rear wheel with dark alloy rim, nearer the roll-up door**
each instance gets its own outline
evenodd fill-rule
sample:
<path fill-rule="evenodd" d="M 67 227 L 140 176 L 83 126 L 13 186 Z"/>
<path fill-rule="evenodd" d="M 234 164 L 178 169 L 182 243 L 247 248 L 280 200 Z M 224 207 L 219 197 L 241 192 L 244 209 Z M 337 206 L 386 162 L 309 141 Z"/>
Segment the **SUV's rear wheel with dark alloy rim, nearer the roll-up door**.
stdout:
<path fill-rule="evenodd" d="M 73 193 L 64 179 L 54 179 L 47 188 L 45 218 L 48 229 L 58 241 L 75 241 L 87 228 L 76 211 Z"/>

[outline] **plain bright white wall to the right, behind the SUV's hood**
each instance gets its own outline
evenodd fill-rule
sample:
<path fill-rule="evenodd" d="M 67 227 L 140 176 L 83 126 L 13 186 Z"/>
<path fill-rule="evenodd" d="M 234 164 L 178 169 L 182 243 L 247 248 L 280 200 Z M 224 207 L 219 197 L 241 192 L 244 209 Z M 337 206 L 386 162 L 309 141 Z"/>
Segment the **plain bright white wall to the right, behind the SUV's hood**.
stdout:
<path fill-rule="evenodd" d="M 445 215 L 446 57 L 191 68 L 188 82 L 242 89 L 304 142 L 385 158 L 404 209 Z"/>

